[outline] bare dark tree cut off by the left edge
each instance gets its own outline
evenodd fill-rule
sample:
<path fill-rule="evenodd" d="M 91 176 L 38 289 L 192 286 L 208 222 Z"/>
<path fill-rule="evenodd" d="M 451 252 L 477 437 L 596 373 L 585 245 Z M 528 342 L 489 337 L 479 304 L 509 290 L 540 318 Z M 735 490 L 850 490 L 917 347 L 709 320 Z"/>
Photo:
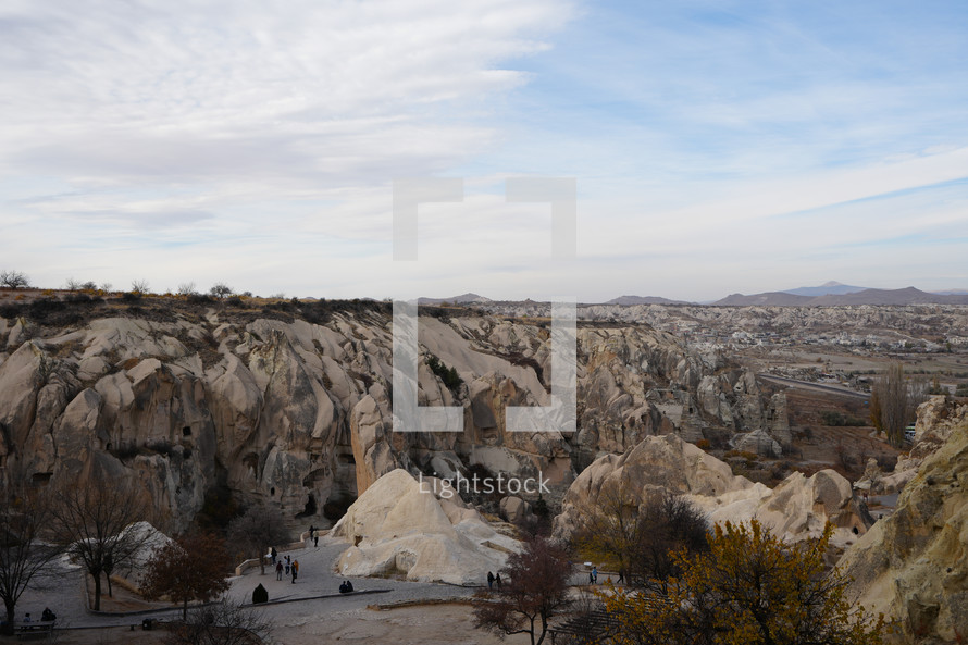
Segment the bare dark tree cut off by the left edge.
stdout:
<path fill-rule="evenodd" d="M 11 481 L 0 507 L 0 598 L 11 632 L 16 603 L 32 582 L 44 575 L 62 549 L 41 539 L 50 518 L 49 495 L 42 488 Z"/>

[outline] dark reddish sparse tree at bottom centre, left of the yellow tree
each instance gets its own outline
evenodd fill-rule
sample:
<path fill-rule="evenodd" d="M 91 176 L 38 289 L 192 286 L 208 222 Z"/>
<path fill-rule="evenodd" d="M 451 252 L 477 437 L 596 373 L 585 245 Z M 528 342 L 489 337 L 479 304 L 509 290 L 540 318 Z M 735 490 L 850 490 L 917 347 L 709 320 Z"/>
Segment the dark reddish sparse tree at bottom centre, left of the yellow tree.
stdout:
<path fill-rule="evenodd" d="M 548 621 L 571 605 L 568 583 L 573 571 L 563 546 L 541 536 L 526 539 L 521 553 L 508 556 L 500 591 L 485 592 L 474 601 L 476 627 L 502 636 L 529 634 L 531 645 L 541 645 Z"/>

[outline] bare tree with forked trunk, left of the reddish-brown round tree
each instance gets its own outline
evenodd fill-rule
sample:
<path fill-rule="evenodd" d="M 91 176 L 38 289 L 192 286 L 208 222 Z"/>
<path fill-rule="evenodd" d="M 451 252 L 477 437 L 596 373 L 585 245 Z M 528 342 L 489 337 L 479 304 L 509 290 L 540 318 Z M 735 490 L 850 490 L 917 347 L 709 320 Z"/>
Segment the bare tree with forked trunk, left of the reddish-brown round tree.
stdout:
<path fill-rule="evenodd" d="M 95 610 L 101 607 L 101 574 L 128 562 L 144 535 L 128 526 L 149 517 L 147 494 L 129 481 L 92 479 L 85 485 L 62 485 L 51 507 L 55 534 L 67 553 L 95 581 Z"/>

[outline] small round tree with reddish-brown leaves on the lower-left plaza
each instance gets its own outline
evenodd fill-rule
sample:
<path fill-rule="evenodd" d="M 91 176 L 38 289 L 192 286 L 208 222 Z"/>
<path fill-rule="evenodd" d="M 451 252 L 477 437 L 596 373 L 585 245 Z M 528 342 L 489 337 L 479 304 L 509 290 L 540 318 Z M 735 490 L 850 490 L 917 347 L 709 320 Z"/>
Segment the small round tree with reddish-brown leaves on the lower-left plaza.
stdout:
<path fill-rule="evenodd" d="M 225 542 L 215 535 L 182 535 L 156 551 L 141 579 L 149 598 L 167 596 L 182 605 L 187 618 L 190 600 L 208 601 L 228 588 L 228 554 Z"/>

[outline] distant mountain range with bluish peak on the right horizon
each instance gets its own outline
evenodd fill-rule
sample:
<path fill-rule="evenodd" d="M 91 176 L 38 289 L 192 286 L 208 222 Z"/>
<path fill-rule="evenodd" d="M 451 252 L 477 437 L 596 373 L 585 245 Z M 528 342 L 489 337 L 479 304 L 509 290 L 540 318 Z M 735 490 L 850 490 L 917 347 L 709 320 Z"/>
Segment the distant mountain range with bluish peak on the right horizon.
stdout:
<path fill-rule="evenodd" d="M 929 294 L 907 287 L 904 289 L 862 289 L 847 294 L 809 297 L 789 292 L 766 294 L 732 294 L 713 305 L 719 307 L 837 307 L 847 305 L 968 305 L 968 295 Z"/>

